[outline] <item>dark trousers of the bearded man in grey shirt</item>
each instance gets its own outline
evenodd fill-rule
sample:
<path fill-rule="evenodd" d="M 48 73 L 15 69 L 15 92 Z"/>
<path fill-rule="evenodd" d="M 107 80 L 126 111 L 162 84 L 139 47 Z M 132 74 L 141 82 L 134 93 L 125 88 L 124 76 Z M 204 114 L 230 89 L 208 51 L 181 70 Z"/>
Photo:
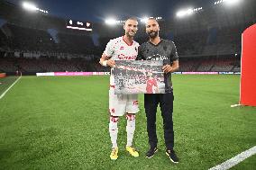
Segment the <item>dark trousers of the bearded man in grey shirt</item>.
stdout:
<path fill-rule="evenodd" d="M 173 93 L 168 94 L 144 94 L 144 107 L 147 116 L 147 131 L 151 148 L 157 147 L 156 112 L 160 103 L 160 111 L 163 120 L 164 139 L 166 148 L 174 147 L 174 132 L 172 122 Z"/>

